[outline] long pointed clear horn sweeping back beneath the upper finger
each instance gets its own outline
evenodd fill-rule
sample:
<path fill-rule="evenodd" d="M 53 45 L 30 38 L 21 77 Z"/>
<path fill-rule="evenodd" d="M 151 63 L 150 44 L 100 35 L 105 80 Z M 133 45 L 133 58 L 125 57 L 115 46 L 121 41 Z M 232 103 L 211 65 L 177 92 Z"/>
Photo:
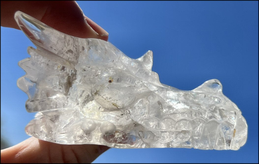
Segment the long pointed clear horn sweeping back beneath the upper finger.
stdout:
<path fill-rule="evenodd" d="M 72 38 L 72 36 L 59 32 L 21 11 L 15 13 L 15 20 L 20 29 L 43 54 L 51 52 L 53 53 L 52 57 L 59 56 L 69 62 L 77 63 L 79 54 L 77 45 L 81 38 Z M 64 47 L 67 51 L 64 51 Z M 48 53 L 44 53 L 46 50 Z"/>

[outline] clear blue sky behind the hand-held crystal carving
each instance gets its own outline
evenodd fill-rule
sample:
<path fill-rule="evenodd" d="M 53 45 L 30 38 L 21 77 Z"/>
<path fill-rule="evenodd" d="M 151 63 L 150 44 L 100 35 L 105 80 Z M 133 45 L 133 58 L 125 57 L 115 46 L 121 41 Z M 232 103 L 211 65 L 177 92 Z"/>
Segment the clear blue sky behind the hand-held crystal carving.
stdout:
<path fill-rule="evenodd" d="M 84 14 L 109 33 L 109 41 L 131 58 L 152 50 L 152 70 L 161 83 L 192 90 L 209 79 L 241 109 L 248 139 L 238 151 L 188 148 L 111 148 L 100 163 L 258 162 L 258 1 L 78 1 Z M 16 81 L 32 42 L 17 29 L 1 27 L 1 135 L 10 145 L 24 131 L 27 95 Z"/>

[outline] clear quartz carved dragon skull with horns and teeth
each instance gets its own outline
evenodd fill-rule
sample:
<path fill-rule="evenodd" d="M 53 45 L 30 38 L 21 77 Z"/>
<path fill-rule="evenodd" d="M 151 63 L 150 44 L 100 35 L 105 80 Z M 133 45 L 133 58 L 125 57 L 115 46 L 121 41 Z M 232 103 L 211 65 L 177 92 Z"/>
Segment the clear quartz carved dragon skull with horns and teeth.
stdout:
<path fill-rule="evenodd" d="M 111 43 L 66 35 L 17 11 L 37 46 L 19 62 L 17 81 L 28 112 L 28 135 L 61 144 L 116 148 L 186 147 L 238 150 L 247 124 L 212 79 L 191 91 L 161 84 L 148 51 L 131 59 Z"/>

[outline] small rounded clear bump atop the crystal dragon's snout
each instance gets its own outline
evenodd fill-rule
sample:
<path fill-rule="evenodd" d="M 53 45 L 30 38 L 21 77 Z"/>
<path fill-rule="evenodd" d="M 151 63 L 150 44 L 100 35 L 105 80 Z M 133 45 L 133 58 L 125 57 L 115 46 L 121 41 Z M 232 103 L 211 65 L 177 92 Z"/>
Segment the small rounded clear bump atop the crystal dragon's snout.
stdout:
<path fill-rule="evenodd" d="M 211 95 L 222 95 L 222 85 L 219 80 L 211 79 L 205 81 L 202 85 L 192 90 L 193 92 L 211 94 Z"/>

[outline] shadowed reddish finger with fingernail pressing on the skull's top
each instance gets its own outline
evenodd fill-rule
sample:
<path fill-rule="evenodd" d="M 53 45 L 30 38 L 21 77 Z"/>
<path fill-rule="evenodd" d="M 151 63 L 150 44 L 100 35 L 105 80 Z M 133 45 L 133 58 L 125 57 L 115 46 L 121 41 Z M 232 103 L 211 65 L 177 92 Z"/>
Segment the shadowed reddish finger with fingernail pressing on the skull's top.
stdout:
<path fill-rule="evenodd" d="M 68 35 L 108 40 L 108 33 L 84 17 L 75 1 L 1 1 L 1 26 L 20 29 L 14 19 L 18 10 Z"/>

